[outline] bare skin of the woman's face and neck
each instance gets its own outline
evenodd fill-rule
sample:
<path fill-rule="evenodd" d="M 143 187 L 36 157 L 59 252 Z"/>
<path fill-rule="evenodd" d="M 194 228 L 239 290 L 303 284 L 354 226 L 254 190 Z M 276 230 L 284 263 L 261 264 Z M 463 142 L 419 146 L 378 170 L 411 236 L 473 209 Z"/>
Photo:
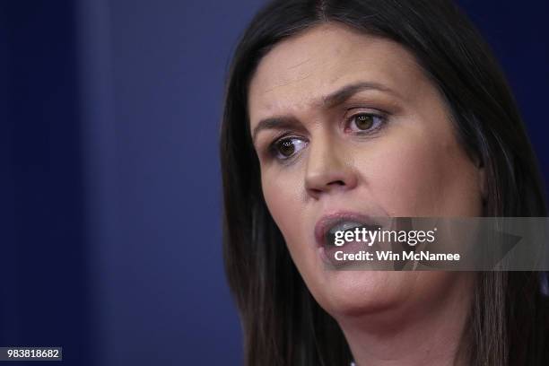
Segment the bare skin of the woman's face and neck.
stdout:
<path fill-rule="evenodd" d="M 369 87 L 327 103 L 360 83 Z M 457 143 L 444 100 L 414 57 L 344 25 L 316 26 L 261 60 L 248 113 L 266 205 L 357 364 L 459 363 L 474 274 L 330 271 L 314 237 L 330 213 L 482 215 L 484 171 Z M 361 113 L 375 128 L 358 127 Z M 267 118 L 284 123 L 260 123 Z M 294 150 L 285 160 L 273 148 L 283 134 Z"/>

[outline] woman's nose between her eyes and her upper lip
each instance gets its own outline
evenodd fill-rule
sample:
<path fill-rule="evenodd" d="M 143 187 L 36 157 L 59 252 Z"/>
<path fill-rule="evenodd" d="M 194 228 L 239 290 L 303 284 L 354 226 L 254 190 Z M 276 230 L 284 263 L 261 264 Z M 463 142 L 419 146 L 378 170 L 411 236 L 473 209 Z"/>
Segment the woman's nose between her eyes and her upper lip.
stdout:
<path fill-rule="evenodd" d="M 319 198 L 334 191 L 345 191 L 356 187 L 358 177 L 349 157 L 342 149 L 329 141 L 309 144 L 305 173 L 305 188 L 309 196 Z"/>

